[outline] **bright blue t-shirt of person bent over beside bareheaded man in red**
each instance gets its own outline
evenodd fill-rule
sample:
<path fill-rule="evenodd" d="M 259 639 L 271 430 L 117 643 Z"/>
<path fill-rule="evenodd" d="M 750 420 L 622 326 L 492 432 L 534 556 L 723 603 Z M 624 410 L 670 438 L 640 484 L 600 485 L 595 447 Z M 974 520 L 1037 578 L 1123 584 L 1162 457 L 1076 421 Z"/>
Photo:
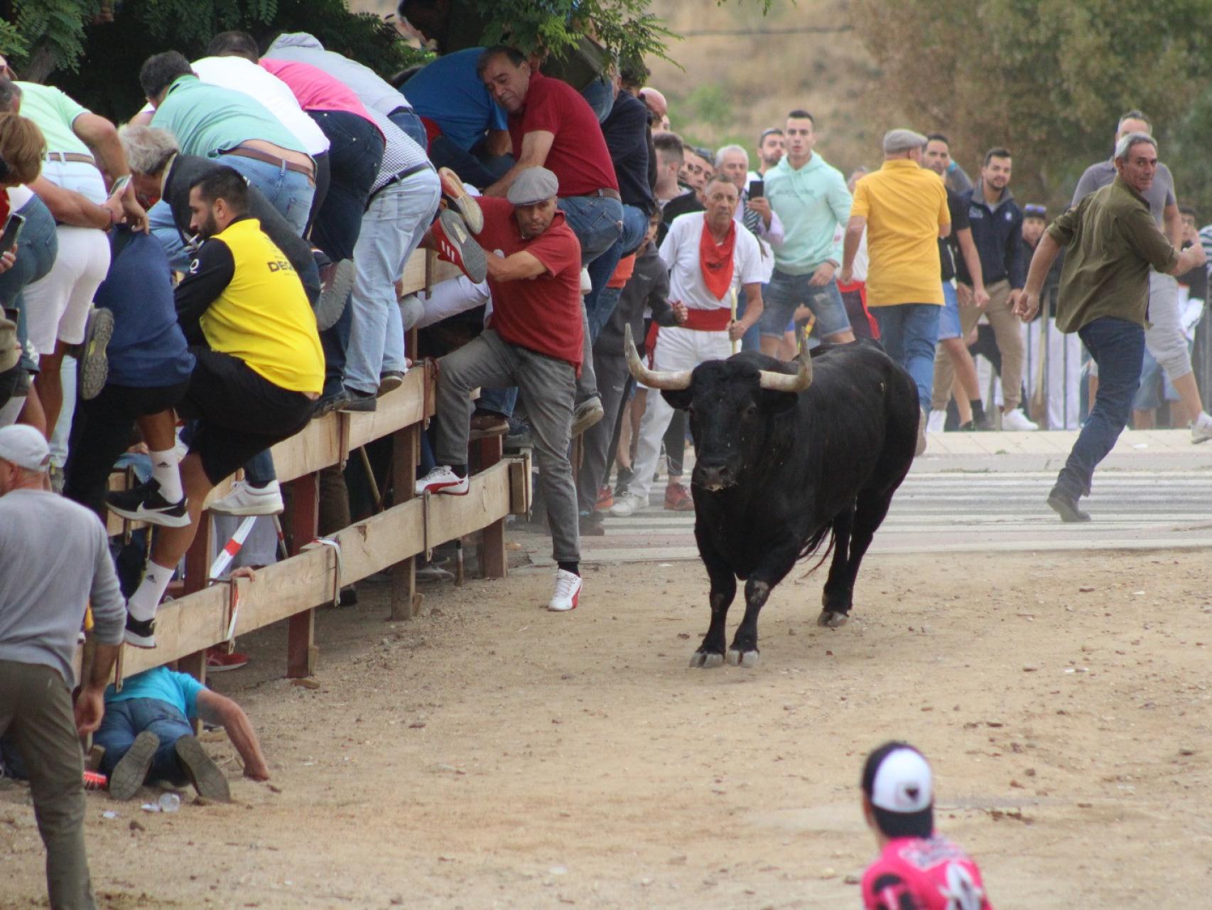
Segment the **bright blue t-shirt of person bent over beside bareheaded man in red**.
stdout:
<path fill-rule="evenodd" d="M 400 87 L 412 109 L 438 124 L 442 135 L 464 152 L 484 138 L 485 130 L 509 129 L 505 112 L 475 74 L 482 51 L 468 47 L 446 53 Z"/>

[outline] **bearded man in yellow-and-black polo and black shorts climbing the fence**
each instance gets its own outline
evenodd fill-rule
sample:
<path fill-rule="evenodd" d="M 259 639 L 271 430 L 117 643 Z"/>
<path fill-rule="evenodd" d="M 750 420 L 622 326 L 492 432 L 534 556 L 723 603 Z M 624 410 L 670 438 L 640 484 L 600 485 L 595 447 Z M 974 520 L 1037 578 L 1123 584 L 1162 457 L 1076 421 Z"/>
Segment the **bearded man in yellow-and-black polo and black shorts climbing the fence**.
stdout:
<path fill-rule="evenodd" d="M 307 426 L 324 387 L 307 292 L 248 216 L 244 177 L 231 167 L 208 171 L 190 184 L 189 209 L 190 231 L 207 238 L 175 294 L 177 322 L 196 358 L 177 408 L 196 421 L 181 462 L 190 523 L 159 530 L 127 604 L 126 641 L 139 648 L 155 647 L 156 607 L 194 540 L 206 495 L 251 456 Z"/>

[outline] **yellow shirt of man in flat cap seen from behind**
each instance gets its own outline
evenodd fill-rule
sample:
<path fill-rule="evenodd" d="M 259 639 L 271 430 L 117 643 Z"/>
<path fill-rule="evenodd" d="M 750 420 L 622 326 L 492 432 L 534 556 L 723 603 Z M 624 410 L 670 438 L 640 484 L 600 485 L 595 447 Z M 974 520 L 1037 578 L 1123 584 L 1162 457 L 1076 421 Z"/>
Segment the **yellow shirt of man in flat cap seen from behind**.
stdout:
<path fill-rule="evenodd" d="M 867 218 L 867 305 L 943 303 L 938 231 L 951 223 L 943 178 L 909 159 L 885 161 L 854 187 Z"/>

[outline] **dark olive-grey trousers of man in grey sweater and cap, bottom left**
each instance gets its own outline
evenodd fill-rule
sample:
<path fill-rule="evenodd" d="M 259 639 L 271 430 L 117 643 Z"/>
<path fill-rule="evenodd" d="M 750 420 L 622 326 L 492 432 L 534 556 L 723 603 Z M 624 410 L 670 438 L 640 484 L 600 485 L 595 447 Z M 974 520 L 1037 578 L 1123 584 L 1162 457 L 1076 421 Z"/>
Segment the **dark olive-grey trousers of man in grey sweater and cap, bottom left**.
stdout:
<path fill-rule="evenodd" d="M 96 910 L 84 849 L 84 756 L 72 693 L 57 670 L 0 660 L 0 734 L 10 730 L 25 760 L 46 846 L 51 908 Z"/>

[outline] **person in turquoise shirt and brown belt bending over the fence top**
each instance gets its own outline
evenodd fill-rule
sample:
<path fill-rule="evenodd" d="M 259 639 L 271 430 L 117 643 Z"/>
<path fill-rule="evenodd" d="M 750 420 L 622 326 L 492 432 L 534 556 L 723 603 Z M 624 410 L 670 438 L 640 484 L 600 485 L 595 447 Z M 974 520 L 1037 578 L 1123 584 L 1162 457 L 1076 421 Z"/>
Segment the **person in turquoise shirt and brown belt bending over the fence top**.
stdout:
<path fill-rule="evenodd" d="M 139 84 L 155 108 L 152 126 L 176 136 L 182 154 L 222 157 L 303 235 L 315 198 L 315 163 L 264 104 L 204 83 L 177 51 L 148 57 Z"/>

